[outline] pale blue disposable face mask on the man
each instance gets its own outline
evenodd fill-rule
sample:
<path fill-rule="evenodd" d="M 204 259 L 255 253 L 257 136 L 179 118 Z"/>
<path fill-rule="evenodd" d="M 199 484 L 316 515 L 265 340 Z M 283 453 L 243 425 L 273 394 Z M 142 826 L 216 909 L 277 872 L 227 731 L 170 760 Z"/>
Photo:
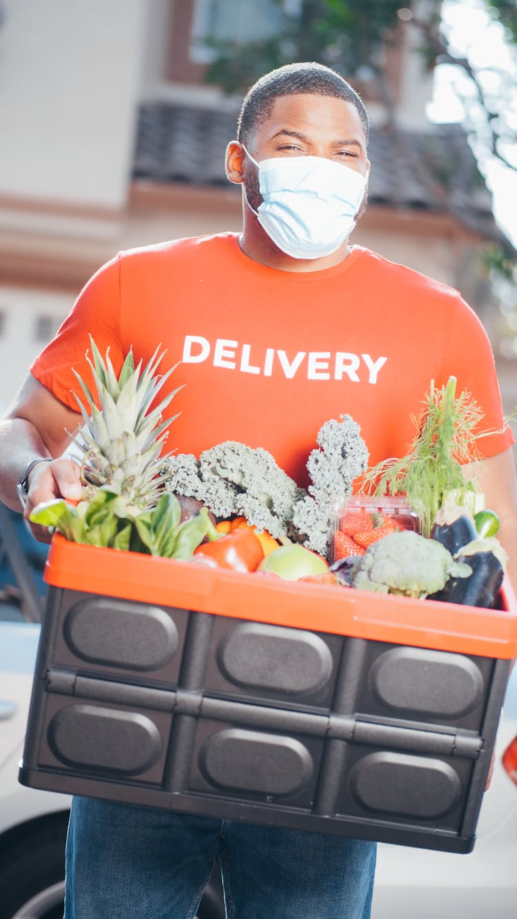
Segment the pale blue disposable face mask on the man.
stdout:
<path fill-rule="evenodd" d="M 355 226 L 366 179 L 322 156 L 274 157 L 257 163 L 258 210 L 246 203 L 273 242 L 292 258 L 332 255 Z"/>

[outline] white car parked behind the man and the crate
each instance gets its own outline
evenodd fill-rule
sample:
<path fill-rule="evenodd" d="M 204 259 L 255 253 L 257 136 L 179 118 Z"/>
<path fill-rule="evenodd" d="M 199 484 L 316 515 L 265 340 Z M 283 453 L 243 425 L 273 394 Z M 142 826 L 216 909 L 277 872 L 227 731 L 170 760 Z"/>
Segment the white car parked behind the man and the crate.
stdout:
<path fill-rule="evenodd" d="M 3 521 L 5 509 L 0 508 L 0 548 L 2 543 L 6 548 Z M 10 554 L 13 547 L 19 548 L 19 542 L 17 546 L 9 530 Z M 62 917 L 69 800 L 17 782 L 39 639 L 39 625 L 25 621 L 25 616 L 37 618 L 39 602 L 37 587 L 27 596 L 23 584 L 12 590 L 6 588 L 5 579 L 0 581 L 0 620 L 4 620 L 0 621 L 0 919 Z M 506 767 L 502 763 L 505 752 Z M 481 807 L 474 851 L 456 855 L 379 845 L 372 919 L 514 919 L 516 785 L 517 667 L 508 687 L 494 775 Z M 216 879 L 208 888 L 198 919 L 223 917 Z"/>

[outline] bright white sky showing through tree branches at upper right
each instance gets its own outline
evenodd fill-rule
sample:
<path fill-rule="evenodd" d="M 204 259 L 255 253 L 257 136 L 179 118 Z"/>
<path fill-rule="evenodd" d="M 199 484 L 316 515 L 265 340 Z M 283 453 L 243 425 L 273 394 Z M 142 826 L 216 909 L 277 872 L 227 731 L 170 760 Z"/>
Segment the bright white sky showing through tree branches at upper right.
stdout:
<path fill-rule="evenodd" d="M 506 111 L 509 123 L 517 129 L 517 51 L 509 50 L 500 23 L 487 14 L 484 0 L 444 0 L 444 27 L 455 51 L 466 53 L 476 68 L 502 68 L 509 76 L 506 89 L 510 94 Z M 498 92 L 498 77 L 486 70 L 482 79 L 490 81 Z M 510 87 L 510 88 L 509 88 Z M 440 64 L 435 71 L 433 101 L 428 107 L 428 117 L 437 122 L 462 121 L 466 108 L 462 97 L 472 99 L 470 81 L 460 68 Z M 516 171 L 502 165 L 496 157 L 484 156 L 479 165 L 494 196 L 494 214 L 501 229 L 517 247 L 517 150 L 516 145 L 505 149 L 507 158 L 515 163 Z"/>

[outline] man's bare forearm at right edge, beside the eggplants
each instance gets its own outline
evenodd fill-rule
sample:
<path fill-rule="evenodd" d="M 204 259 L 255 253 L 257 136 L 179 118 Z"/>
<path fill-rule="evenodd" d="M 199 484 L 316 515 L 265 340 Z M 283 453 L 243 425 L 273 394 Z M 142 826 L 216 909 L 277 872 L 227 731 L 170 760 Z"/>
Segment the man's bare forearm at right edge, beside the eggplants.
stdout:
<path fill-rule="evenodd" d="M 498 539 L 508 552 L 508 574 L 517 588 L 517 475 L 511 448 L 470 467 L 486 504 L 500 517 Z M 467 472 L 468 475 L 468 472 Z"/>

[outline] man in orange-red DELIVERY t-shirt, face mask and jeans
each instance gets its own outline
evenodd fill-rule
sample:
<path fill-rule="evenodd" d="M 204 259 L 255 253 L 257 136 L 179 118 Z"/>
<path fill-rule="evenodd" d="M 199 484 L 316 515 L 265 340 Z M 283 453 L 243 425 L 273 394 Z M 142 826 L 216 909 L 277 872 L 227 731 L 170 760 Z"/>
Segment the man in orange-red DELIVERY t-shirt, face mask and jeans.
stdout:
<path fill-rule="evenodd" d="M 431 380 L 454 373 L 492 432 L 472 471 L 517 556 L 512 437 L 478 319 L 456 291 L 349 245 L 365 206 L 367 133 L 359 97 L 319 64 L 251 88 L 226 159 L 242 185 L 242 234 L 135 250 L 97 272 L 2 425 L 7 504 L 20 479 L 26 516 L 54 495 L 80 495 L 79 471 L 61 457 L 78 425 L 71 365 L 88 377 L 91 333 L 116 369 L 129 346 L 145 361 L 160 342 L 171 365 L 182 361 L 171 382 L 185 383 L 178 452 L 239 440 L 270 450 L 300 484 L 324 421 L 352 414 L 372 463 L 400 456 Z M 191 917 L 216 851 L 235 919 L 370 914 L 375 844 L 74 800 L 66 917 Z"/>

